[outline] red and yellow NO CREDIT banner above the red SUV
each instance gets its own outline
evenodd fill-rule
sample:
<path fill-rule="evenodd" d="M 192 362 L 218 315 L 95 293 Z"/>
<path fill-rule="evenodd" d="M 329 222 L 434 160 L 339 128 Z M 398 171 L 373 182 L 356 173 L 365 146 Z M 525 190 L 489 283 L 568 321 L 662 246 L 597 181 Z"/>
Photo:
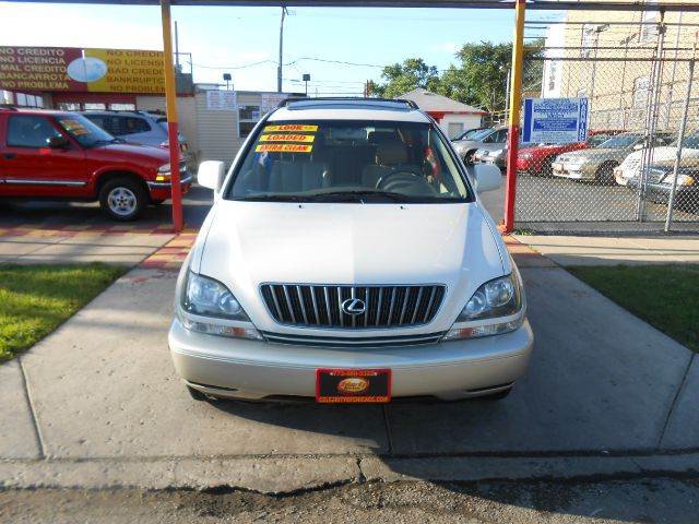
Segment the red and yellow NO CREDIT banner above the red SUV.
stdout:
<path fill-rule="evenodd" d="M 0 46 L 0 88 L 165 93 L 163 51 Z"/>

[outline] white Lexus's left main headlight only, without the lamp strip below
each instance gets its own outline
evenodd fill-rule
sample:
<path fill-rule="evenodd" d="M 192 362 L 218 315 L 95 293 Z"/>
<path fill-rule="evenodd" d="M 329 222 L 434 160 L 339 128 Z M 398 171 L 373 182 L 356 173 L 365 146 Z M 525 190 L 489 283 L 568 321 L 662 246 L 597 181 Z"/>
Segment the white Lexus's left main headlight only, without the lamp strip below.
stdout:
<path fill-rule="evenodd" d="M 188 313 L 202 317 L 217 317 L 221 319 L 249 322 L 242 311 L 240 302 L 226 286 L 208 276 L 189 272 L 187 285 L 182 295 L 182 308 Z"/>

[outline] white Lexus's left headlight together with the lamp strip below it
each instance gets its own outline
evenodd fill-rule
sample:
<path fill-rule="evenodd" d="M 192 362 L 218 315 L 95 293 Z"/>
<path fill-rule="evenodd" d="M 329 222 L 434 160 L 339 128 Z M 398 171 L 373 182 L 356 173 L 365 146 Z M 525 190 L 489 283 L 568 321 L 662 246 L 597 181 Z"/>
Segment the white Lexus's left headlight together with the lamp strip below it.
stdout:
<path fill-rule="evenodd" d="M 190 331 L 208 335 L 233 336 L 262 341 L 263 337 L 254 329 L 242 310 L 240 302 L 226 286 L 208 276 L 189 272 L 181 299 L 182 311 L 178 318 Z M 236 326 L 223 322 L 211 322 L 208 319 L 191 319 L 185 313 L 210 317 L 227 321 L 246 322 L 248 325 Z M 213 320 L 213 319 L 212 319 Z"/>

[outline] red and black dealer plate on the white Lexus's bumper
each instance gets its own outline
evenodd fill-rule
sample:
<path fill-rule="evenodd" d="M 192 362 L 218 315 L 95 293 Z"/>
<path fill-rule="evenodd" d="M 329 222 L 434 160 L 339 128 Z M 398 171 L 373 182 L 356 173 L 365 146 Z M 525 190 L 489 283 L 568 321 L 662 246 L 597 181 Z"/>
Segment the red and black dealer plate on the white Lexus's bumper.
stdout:
<path fill-rule="evenodd" d="M 316 401 L 391 402 L 390 369 L 317 369 Z"/>

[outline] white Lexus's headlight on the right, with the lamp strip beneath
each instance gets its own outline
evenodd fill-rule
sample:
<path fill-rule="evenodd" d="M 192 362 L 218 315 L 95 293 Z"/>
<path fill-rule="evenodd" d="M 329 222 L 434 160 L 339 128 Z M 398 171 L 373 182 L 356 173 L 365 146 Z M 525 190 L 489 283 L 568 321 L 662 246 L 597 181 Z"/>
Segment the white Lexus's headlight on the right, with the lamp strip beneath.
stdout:
<path fill-rule="evenodd" d="M 488 319 L 503 320 L 472 327 L 451 329 L 443 341 L 497 335 L 517 330 L 524 315 L 512 318 L 522 311 L 522 284 L 517 271 L 508 276 L 483 284 L 463 308 L 457 322 L 475 322 Z M 509 319 L 507 319 L 510 317 Z"/>

